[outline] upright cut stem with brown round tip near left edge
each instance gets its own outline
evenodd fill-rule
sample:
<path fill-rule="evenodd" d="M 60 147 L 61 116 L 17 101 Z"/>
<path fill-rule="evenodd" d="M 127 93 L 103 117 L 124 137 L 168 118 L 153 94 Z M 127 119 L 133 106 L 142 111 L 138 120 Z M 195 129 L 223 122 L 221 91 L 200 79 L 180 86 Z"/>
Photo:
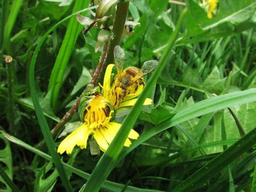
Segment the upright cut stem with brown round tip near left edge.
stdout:
<path fill-rule="evenodd" d="M 9 122 L 9 130 L 11 134 L 13 134 L 13 127 L 14 127 L 14 121 L 13 121 L 13 114 L 14 111 L 14 89 L 13 89 L 13 82 L 14 82 L 14 66 L 12 62 L 11 56 L 5 57 L 6 62 L 6 69 L 7 69 L 7 82 L 8 82 L 8 111 L 7 111 L 7 120 Z"/>

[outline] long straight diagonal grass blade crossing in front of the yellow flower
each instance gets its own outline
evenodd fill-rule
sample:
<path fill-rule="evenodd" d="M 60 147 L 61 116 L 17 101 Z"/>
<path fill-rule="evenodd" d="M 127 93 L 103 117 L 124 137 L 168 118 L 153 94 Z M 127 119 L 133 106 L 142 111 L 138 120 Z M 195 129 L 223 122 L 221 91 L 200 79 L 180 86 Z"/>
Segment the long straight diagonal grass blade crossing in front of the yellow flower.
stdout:
<path fill-rule="evenodd" d="M 179 29 L 182 25 L 183 18 L 186 15 L 186 12 L 187 12 L 187 9 L 184 9 L 184 11 L 182 12 L 182 15 L 180 16 L 176 29 L 171 34 L 171 37 L 168 41 L 168 45 L 164 49 L 163 55 L 159 61 L 159 65 L 155 69 L 154 73 L 151 75 L 148 84 L 145 86 L 145 89 L 143 90 L 142 94 L 138 98 L 134 107 L 131 109 L 130 113 L 126 116 L 120 130 L 118 131 L 117 135 L 115 135 L 115 138 L 107 148 L 107 151 L 103 154 L 103 156 L 97 163 L 96 167 L 92 172 L 92 175 L 90 176 L 89 180 L 86 182 L 82 192 L 85 192 L 85 191 L 98 192 L 99 189 L 101 188 L 101 185 L 109 175 L 112 167 L 114 166 L 118 158 L 119 153 L 123 148 L 123 144 L 131 128 L 133 127 L 135 121 L 138 118 L 138 115 L 143 106 L 143 102 L 145 101 L 147 95 L 150 94 L 153 85 L 155 85 L 157 78 L 159 77 L 160 73 L 162 72 L 162 70 L 164 69 L 164 66 L 168 61 L 172 46 L 174 45 L 174 42 L 176 40 L 176 37 L 178 35 Z"/>

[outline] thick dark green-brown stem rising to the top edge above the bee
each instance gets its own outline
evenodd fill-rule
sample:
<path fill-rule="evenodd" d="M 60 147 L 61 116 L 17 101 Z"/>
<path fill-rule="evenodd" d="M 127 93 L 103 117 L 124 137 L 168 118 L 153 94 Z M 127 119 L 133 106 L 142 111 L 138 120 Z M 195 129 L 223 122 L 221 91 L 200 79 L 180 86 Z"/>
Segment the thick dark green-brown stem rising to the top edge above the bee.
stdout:
<path fill-rule="evenodd" d="M 98 82 L 103 83 L 103 78 L 107 65 L 114 63 L 114 48 L 119 45 L 121 36 L 123 33 L 123 28 L 125 26 L 125 20 L 129 8 L 129 2 L 118 3 L 117 10 L 115 12 L 115 18 L 113 23 L 113 29 L 110 35 L 109 47 L 107 49 L 107 57 L 102 67 L 101 74 L 99 76 Z"/>

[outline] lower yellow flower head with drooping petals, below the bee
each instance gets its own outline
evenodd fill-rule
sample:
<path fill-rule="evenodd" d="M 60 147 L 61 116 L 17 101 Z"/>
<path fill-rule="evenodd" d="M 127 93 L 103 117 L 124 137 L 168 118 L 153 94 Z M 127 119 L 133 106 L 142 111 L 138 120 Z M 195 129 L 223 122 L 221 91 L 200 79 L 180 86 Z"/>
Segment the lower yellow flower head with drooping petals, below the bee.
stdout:
<path fill-rule="evenodd" d="M 84 123 L 60 143 L 58 153 L 62 154 L 66 151 L 67 154 L 71 154 L 76 145 L 82 149 L 86 148 L 90 135 L 94 137 L 102 151 L 107 150 L 121 124 L 110 122 L 111 114 L 114 111 L 110 111 L 110 107 L 104 101 L 106 101 L 106 98 L 101 93 L 94 96 L 90 105 L 86 108 Z M 136 131 L 131 130 L 128 138 L 137 139 L 138 136 L 139 134 Z M 124 144 L 126 147 L 131 144 L 128 138 Z"/>

